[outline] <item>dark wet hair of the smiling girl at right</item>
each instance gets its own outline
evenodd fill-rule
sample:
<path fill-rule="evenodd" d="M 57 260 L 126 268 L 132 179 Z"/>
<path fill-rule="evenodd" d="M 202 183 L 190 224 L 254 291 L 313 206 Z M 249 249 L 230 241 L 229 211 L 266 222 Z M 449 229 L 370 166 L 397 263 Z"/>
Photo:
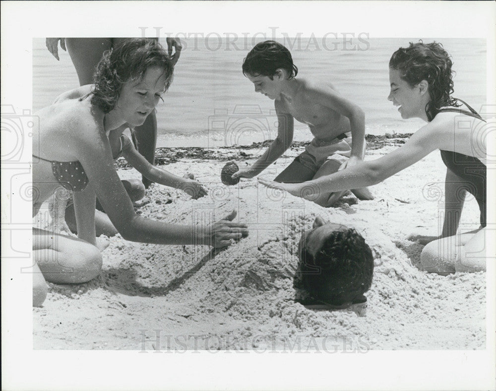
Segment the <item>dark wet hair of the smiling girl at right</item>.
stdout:
<path fill-rule="evenodd" d="M 424 44 L 410 42 L 408 48 L 399 48 L 389 60 L 389 67 L 400 71 L 401 78 L 411 87 L 422 80 L 429 83 L 431 100 L 426 106 L 426 114 L 432 121 L 444 106 L 460 106 L 453 93 L 453 71 L 451 57 L 438 42 Z"/>

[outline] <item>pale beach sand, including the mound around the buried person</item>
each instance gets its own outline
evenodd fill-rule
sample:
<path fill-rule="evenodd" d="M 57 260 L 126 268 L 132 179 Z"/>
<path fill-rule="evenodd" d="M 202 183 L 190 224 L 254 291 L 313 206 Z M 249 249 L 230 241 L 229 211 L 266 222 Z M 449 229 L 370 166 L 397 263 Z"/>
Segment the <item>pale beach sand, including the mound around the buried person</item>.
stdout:
<path fill-rule="evenodd" d="M 139 213 L 190 224 L 237 209 L 236 219 L 248 223 L 247 238 L 217 252 L 112 238 L 98 279 L 50 284 L 44 307 L 34 309 L 35 348 L 165 350 L 177 349 L 178 338 L 191 349 L 485 347 L 486 274 L 427 274 L 418 269 L 422 246 L 406 240 L 419 227 L 435 233 L 437 204 L 422 188 L 442 181 L 438 156 L 375 186 L 373 201 L 349 197 L 332 209 L 260 187 L 256 180 L 225 186 L 219 179 L 224 163 L 167 166 L 178 174 L 194 172 L 209 196 L 190 200 L 153 185 Z M 132 170 L 121 174 L 136 176 Z M 467 220 L 477 216 L 472 201 Z M 317 215 L 355 227 L 372 249 L 375 270 L 365 317 L 351 310 L 309 310 L 294 301 L 298 241 Z"/>

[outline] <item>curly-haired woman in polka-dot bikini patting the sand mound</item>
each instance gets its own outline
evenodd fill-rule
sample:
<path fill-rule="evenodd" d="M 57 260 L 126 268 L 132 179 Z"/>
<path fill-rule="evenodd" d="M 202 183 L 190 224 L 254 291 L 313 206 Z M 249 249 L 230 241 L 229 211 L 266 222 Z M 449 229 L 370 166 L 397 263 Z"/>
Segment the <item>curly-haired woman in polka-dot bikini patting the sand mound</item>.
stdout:
<path fill-rule="evenodd" d="M 33 133 L 33 151 L 39 158 L 33 157 L 33 216 L 65 184 L 64 187 L 74 191 L 78 237 L 33 230 L 34 305 L 39 306 L 45 300 L 45 280 L 81 283 L 100 274 L 102 257 L 95 235 L 97 196 L 126 240 L 225 247 L 231 244 L 231 239 L 248 234 L 246 224 L 232 221 L 236 211 L 217 223 L 194 227 L 144 219 L 134 212 L 114 168 L 109 140 L 120 137 L 124 124 L 131 127 L 143 124 L 155 110 L 161 94 L 167 91 L 172 75 L 171 59 L 158 42 L 126 40 L 100 62 L 89 96 L 74 99 L 67 94 L 36 113 L 40 126 Z M 84 187 L 73 186 L 80 182 L 69 179 L 75 175 L 69 173 L 71 166 L 77 166 L 78 172 L 84 171 L 84 176 L 79 174 L 77 178 L 87 178 Z"/>

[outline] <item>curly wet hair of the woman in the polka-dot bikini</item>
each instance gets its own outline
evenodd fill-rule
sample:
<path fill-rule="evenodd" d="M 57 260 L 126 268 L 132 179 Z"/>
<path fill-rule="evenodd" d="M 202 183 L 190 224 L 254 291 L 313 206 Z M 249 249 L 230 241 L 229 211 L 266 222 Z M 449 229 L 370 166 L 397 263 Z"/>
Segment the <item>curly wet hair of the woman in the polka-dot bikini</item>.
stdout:
<path fill-rule="evenodd" d="M 124 83 L 141 81 L 150 67 L 160 67 L 166 76 L 166 90 L 172 83 L 174 65 L 157 40 L 133 38 L 105 52 L 94 75 L 91 104 L 102 112 L 112 111 L 119 100 Z"/>

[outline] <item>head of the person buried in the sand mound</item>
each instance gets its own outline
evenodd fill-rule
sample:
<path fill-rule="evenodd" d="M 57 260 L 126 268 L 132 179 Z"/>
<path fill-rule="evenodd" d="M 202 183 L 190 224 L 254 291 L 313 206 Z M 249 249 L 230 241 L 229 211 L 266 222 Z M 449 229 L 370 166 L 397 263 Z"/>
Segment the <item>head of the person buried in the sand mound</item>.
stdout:
<path fill-rule="evenodd" d="M 317 217 L 300 239 L 298 257 L 294 287 L 303 305 L 313 309 L 366 306 L 364 293 L 372 285 L 373 257 L 355 229 Z"/>

